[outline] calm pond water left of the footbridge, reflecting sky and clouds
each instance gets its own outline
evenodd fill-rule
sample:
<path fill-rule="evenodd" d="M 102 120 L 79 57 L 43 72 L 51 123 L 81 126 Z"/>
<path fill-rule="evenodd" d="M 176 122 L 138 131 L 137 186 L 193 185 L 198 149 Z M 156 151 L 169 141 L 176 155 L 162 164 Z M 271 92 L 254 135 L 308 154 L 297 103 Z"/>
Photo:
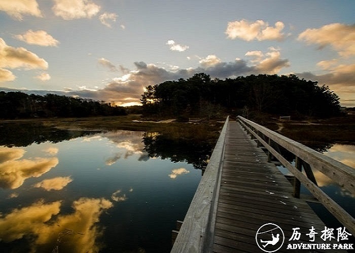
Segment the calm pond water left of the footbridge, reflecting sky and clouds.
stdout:
<path fill-rule="evenodd" d="M 157 136 L 116 131 L 0 146 L 0 250 L 169 252 L 201 170 L 148 153 L 159 149 Z"/>

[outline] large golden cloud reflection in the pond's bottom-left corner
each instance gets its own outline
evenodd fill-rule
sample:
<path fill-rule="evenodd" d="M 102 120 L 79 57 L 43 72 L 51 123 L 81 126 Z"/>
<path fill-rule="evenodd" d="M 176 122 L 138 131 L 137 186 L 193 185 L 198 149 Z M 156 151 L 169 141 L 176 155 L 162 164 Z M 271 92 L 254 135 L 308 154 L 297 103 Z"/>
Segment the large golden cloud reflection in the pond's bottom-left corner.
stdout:
<path fill-rule="evenodd" d="M 80 198 L 73 202 L 74 213 L 60 214 L 61 201 L 35 202 L 0 217 L 0 238 L 5 242 L 33 235 L 31 252 L 51 252 L 59 245 L 64 252 L 98 252 L 95 243 L 102 235 L 97 223 L 101 214 L 113 206 L 104 198 Z M 69 235 L 69 236 L 68 236 Z"/>

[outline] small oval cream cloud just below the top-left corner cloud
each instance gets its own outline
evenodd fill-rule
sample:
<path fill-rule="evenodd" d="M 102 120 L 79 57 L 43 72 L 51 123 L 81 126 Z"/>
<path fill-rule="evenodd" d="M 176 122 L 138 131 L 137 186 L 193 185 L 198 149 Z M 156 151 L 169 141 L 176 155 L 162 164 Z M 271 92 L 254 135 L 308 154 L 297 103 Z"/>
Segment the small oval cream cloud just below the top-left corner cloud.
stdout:
<path fill-rule="evenodd" d="M 30 45 L 38 45 L 43 47 L 57 47 L 59 44 L 58 40 L 53 38 L 44 30 L 28 30 L 24 34 L 15 35 L 15 38 L 25 41 L 25 43 Z"/>

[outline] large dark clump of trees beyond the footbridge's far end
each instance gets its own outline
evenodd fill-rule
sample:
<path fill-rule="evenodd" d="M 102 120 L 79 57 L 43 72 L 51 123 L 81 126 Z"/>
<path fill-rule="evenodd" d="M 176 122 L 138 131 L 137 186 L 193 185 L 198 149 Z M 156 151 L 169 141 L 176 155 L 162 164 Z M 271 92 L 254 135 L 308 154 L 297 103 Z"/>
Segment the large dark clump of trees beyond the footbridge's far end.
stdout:
<path fill-rule="evenodd" d="M 146 114 L 212 116 L 240 109 L 276 115 L 331 117 L 339 97 L 328 86 L 294 74 L 249 75 L 224 80 L 197 73 L 188 79 L 146 87 L 140 99 Z"/>

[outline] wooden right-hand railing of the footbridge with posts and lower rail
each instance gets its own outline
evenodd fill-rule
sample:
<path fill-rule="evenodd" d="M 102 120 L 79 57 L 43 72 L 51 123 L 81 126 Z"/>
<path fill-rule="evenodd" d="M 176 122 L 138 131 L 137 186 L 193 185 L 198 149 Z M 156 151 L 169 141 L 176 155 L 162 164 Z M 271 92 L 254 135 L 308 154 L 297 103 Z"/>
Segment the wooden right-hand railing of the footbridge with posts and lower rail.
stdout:
<path fill-rule="evenodd" d="M 339 186 L 355 195 L 355 170 L 352 167 L 275 133 L 251 120 L 238 116 L 237 121 L 257 140 L 258 145 L 263 145 L 268 150 L 269 161 L 271 161 L 272 156 L 275 157 L 295 176 L 295 197 L 299 197 L 300 184 L 303 184 L 348 231 L 353 235 L 355 234 L 355 219 L 317 186 L 312 173 L 312 170 L 322 172 Z M 295 165 L 281 154 L 281 149 L 286 149 L 295 156 Z M 302 173 L 302 167 L 306 175 Z"/>

